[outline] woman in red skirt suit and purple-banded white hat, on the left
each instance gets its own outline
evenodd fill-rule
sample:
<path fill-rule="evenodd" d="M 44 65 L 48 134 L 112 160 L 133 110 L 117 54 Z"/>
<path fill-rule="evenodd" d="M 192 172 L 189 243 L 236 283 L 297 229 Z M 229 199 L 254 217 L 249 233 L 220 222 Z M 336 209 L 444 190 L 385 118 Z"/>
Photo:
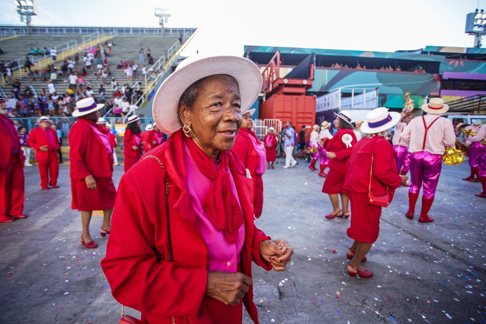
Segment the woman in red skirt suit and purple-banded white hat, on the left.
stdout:
<path fill-rule="evenodd" d="M 69 162 L 71 177 L 71 208 L 81 211 L 83 234 L 81 243 L 88 249 L 98 247 L 89 234 L 89 222 L 93 210 L 103 210 L 103 225 L 100 235 L 110 234 L 110 218 L 115 205 L 116 190 L 113 174 L 113 151 L 110 132 L 96 122 L 98 110 L 104 104 L 97 104 L 93 98 L 76 102 L 72 116 L 78 120 L 72 125 L 69 140 Z"/>

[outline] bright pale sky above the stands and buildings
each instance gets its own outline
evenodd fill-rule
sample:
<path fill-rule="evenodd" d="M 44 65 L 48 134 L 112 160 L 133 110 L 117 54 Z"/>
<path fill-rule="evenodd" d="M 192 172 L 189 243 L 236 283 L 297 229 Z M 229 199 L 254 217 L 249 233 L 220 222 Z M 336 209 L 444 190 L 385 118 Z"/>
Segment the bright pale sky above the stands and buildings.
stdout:
<path fill-rule="evenodd" d="M 166 27 L 199 27 L 205 53 L 241 55 L 243 45 L 360 51 L 472 47 L 466 15 L 477 0 L 39 0 L 33 25 L 157 27 L 154 8 L 170 8 Z M 479 8 L 486 10 L 486 0 Z M 0 24 L 20 24 L 13 0 L 0 0 Z M 196 40 L 196 39 L 195 39 Z M 486 44 L 486 37 L 484 39 Z"/>

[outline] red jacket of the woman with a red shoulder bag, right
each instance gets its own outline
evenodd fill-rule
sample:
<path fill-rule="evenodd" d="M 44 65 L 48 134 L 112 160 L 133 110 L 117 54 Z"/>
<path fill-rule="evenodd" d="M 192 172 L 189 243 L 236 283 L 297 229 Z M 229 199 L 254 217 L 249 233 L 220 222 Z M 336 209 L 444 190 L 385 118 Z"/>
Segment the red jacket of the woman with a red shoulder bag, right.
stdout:
<path fill-rule="evenodd" d="M 347 174 L 344 188 L 357 193 L 366 193 L 369 189 L 371 172 L 371 154 L 373 154 L 373 176 L 371 192 L 376 196 L 386 195 L 391 202 L 395 188 L 401 183 L 393 153 L 393 147 L 383 137 L 364 137 L 356 145 L 347 162 Z"/>

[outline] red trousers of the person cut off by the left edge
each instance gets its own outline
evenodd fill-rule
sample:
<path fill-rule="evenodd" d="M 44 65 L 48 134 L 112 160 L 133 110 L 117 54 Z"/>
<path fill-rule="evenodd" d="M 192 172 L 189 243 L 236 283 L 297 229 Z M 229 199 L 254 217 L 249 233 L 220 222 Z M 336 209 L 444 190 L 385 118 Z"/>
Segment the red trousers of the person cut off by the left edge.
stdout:
<path fill-rule="evenodd" d="M 18 154 L 0 168 L 0 216 L 17 216 L 24 209 L 24 170 Z"/>

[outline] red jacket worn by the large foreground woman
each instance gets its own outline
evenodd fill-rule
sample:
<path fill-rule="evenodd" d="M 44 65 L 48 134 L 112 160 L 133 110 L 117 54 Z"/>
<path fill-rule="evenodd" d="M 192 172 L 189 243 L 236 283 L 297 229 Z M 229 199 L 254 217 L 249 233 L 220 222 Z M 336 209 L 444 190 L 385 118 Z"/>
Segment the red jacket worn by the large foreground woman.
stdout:
<path fill-rule="evenodd" d="M 180 147 L 182 150 L 182 144 Z M 121 176 L 106 257 L 101 265 L 115 299 L 141 311 L 142 321 L 170 324 L 174 315 L 176 323 L 211 324 L 206 313 L 209 297 L 205 294 L 208 248 L 192 207 L 186 172 L 178 168 L 184 157 L 173 156 L 166 148 L 167 142 L 145 155 L 159 158 L 167 173 L 155 159 L 147 158 Z M 166 260 L 166 174 L 174 262 Z M 237 174 L 233 174 L 233 180 L 236 188 L 241 188 L 238 194 L 245 217 L 241 272 L 251 277 L 252 260 L 267 270 L 271 268 L 259 252 L 259 243 L 269 237 L 253 223 L 250 180 Z M 252 288 L 243 297 L 243 303 L 258 323 Z"/>

